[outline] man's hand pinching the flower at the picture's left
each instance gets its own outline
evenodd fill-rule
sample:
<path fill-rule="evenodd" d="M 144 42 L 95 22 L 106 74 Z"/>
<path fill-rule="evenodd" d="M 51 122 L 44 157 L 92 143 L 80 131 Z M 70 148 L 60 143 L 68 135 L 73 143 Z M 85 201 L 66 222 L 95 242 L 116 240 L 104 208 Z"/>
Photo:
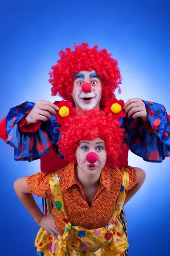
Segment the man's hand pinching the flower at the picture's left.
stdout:
<path fill-rule="evenodd" d="M 47 121 L 51 119 L 51 114 L 54 115 L 59 108 L 51 102 L 46 100 L 38 100 L 34 105 L 34 108 L 24 117 L 26 120 L 25 126 L 32 123 L 37 123 L 38 121 Z"/>

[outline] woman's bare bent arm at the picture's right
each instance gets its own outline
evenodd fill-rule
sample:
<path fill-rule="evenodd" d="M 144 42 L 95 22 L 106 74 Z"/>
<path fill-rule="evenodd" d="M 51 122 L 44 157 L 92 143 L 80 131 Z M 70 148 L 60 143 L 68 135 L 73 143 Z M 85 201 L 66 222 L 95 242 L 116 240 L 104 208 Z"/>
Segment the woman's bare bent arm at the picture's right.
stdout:
<path fill-rule="evenodd" d="M 137 172 L 136 185 L 133 186 L 132 189 L 128 190 L 124 205 L 133 197 L 133 195 L 136 194 L 136 192 L 138 192 L 138 190 L 140 189 L 140 187 L 144 183 L 144 180 L 145 180 L 145 177 L 146 177 L 146 173 L 144 172 L 144 170 L 142 170 L 140 168 L 137 168 L 137 167 L 135 167 L 134 169 Z"/>

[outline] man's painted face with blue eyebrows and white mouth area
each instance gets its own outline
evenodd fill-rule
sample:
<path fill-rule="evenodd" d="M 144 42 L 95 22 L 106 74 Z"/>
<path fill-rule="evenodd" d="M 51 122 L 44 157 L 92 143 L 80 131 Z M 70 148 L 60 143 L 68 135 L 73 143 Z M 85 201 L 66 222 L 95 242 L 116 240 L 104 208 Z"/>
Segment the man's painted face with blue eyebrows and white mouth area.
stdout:
<path fill-rule="evenodd" d="M 91 84 L 91 90 L 84 92 L 82 85 L 84 83 Z M 71 96 L 76 104 L 76 109 L 91 110 L 95 107 L 99 108 L 100 99 L 102 97 L 102 85 L 97 73 L 92 71 L 81 71 L 74 77 L 74 88 Z"/>

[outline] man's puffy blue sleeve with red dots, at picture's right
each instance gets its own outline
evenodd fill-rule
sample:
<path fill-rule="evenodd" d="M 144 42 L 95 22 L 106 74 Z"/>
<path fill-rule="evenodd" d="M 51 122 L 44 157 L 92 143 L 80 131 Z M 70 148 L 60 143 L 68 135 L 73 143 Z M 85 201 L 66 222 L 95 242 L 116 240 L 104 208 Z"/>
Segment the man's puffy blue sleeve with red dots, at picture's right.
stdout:
<path fill-rule="evenodd" d="M 170 156 L 170 116 L 163 105 L 143 102 L 149 122 L 141 118 L 123 118 L 130 151 L 145 161 L 160 163 Z"/>

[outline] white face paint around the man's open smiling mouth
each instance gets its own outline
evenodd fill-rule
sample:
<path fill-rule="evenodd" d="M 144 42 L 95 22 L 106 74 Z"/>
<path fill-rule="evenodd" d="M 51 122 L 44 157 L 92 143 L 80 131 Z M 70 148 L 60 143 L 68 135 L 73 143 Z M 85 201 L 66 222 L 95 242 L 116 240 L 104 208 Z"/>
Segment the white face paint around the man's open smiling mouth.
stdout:
<path fill-rule="evenodd" d="M 92 93 L 77 92 L 76 102 L 80 109 L 91 110 L 95 108 L 100 102 L 99 92 L 97 91 L 94 91 Z"/>

